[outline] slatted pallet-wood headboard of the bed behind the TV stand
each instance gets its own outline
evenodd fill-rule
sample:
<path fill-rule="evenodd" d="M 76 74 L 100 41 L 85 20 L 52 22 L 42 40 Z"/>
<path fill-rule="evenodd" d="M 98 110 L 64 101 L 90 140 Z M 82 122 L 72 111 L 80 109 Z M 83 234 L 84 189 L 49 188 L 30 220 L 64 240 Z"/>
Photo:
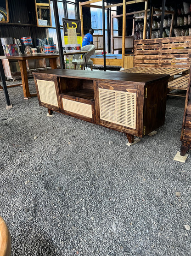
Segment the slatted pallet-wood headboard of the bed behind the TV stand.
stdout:
<path fill-rule="evenodd" d="M 134 67 L 190 68 L 190 41 L 190 36 L 135 40 Z"/>

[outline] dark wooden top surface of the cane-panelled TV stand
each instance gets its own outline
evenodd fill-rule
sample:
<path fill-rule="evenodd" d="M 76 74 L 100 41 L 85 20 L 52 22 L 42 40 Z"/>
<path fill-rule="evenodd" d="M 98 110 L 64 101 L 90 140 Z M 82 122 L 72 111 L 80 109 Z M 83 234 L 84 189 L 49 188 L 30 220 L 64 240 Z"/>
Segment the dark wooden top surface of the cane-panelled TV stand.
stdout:
<path fill-rule="evenodd" d="M 42 74 L 56 77 L 67 77 L 67 78 L 79 78 L 86 80 L 108 80 L 108 81 L 125 81 L 130 83 L 146 84 L 153 82 L 154 80 L 160 80 L 169 75 L 158 75 L 158 74 L 136 74 L 136 73 L 124 73 L 124 72 L 104 72 L 104 71 L 87 71 L 87 70 L 62 70 L 53 69 L 48 71 L 33 72 L 33 74 Z"/>

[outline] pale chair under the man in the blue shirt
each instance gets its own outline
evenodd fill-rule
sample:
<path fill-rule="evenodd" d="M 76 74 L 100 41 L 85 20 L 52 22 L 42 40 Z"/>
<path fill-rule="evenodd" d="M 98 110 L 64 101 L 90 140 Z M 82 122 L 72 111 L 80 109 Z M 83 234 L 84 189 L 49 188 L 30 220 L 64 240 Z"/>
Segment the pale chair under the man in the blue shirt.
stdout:
<path fill-rule="evenodd" d="M 90 65 L 90 68 L 92 70 L 93 61 L 90 60 L 90 57 L 92 54 L 95 53 L 95 46 L 93 44 L 85 45 L 81 48 L 81 51 L 88 52 L 88 53 L 85 54 L 85 57 L 83 57 L 83 59 L 81 59 L 82 55 L 80 54 L 73 55 L 72 63 L 74 64 L 74 69 L 76 69 L 77 65 L 81 65 L 81 69 L 83 69 L 85 67 L 85 59 L 86 59 L 86 64 Z"/>

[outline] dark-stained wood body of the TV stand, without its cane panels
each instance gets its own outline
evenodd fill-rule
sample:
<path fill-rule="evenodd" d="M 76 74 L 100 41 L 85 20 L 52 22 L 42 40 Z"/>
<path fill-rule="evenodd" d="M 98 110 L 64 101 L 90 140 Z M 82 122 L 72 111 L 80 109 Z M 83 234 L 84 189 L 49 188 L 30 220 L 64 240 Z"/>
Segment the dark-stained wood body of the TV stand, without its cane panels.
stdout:
<path fill-rule="evenodd" d="M 40 106 L 47 107 L 49 111 L 55 110 L 75 118 L 124 132 L 130 143 L 134 142 L 134 136 L 143 137 L 148 132 L 163 125 L 169 75 L 49 70 L 34 72 L 34 79 L 35 81 L 36 79 L 44 79 L 55 82 L 59 107 L 50 106 L 39 100 Z M 37 86 L 36 82 L 35 84 Z M 99 89 L 107 89 L 108 91 L 115 90 L 119 92 L 123 91 L 134 93 L 136 95 L 136 111 L 134 112 L 136 122 L 134 128 L 129 127 L 130 125 L 121 125 L 125 123 L 106 121 L 100 118 Z M 37 94 L 39 99 L 38 86 Z M 77 114 L 64 110 L 62 99 L 91 105 L 92 118 L 83 115 L 82 112 Z M 122 100 L 120 102 L 120 104 L 123 104 L 124 101 Z M 121 113 L 123 113 L 123 111 Z"/>

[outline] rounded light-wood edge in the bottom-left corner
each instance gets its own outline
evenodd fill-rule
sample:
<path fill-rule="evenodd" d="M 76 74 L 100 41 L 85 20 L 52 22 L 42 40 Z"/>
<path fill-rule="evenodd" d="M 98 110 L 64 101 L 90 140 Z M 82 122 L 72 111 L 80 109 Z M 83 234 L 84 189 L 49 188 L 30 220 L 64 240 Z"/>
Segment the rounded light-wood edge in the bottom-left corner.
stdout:
<path fill-rule="evenodd" d="M 11 235 L 5 221 L 0 216 L 0 256 L 11 255 Z"/>

